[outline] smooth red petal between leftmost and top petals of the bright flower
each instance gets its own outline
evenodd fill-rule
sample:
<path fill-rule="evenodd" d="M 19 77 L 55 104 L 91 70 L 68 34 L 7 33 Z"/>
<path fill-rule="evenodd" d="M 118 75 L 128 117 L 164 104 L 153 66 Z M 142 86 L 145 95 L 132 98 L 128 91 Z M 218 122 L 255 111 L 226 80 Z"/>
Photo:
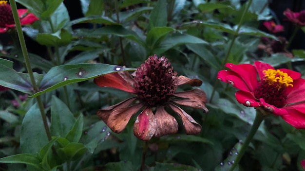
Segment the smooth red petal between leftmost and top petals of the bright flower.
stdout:
<path fill-rule="evenodd" d="M 245 82 L 248 89 L 252 92 L 257 85 L 256 69 L 251 64 L 234 65 L 227 63 L 226 67 L 234 71 Z M 228 77 L 227 77 L 228 79 Z"/>

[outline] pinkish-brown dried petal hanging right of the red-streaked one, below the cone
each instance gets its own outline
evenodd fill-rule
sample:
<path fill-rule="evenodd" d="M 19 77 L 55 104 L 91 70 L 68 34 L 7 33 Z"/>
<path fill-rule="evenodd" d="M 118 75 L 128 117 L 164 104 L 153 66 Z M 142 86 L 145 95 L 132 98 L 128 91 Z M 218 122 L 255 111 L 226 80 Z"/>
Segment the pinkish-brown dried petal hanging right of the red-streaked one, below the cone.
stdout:
<path fill-rule="evenodd" d="M 157 106 L 154 118 L 157 121 L 157 130 L 154 133 L 155 137 L 176 134 L 178 132 L 177 120 L 167 113 L 163 106 Z"/>

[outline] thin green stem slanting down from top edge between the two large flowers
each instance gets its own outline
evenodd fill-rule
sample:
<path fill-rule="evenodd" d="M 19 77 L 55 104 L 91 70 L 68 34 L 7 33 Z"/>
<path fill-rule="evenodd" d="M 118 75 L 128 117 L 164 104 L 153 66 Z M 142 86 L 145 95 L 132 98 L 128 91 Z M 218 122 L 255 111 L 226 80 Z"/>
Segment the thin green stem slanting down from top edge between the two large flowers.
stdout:
<path fill-rule="evenodd" d="M 221 70 L 223 70 L 223 69 L 225 68 L 225 64 L 226 64 L 227 61 L 228 61 L 230 52 L 231 52 L 232 47 L 233 47 L 233 45 L 234 45 L 234 43 L 235 43 L 235 39 L 238 37 L 238 32 L 239 32 L 240 28 L 242 27 L 242 24 L 243 24 L 243 22 L 244 22 L 244 18 L 245 18 L 245 16 L 246 16 L 247 11 L 249 10 L 249 8 L 250 8 L 250 6 L 251 6 L 251 3 L 252 3 L 252 0 L 249 0 L 249 1 L 248 1 L 248 4 L 247 4 L 247 6 L 246 6 L 246 9 L 245 9 L 244 12 L 243 12 L 243 15 L 242 15 L 242 17 L 241 17 L 240 20 L 239 20 L 237 29 L 236 29 L 235 34 L 234 34 L 234 36 L 233 36 L 233 38 L 232 38 L 232 41 L 231 41 L 231 43 L 230 43 L 229 50 L 228 50 L 228 52 L 227 52 L 227 54 L 226 54 L 226 57 L 225 57 L 225 60 L 224 60 L 224 62 L 223 62 L 223 64 L 222 64 Z M 213 91 L 212 91 L 211 97 L 210 97 L 210 103 L 211 103 L 212 100 L 213 100 L 213 97 L 214 97 L 214 94 L 215 94 L 215 90 L 216 90 L 216 86 L 217 86 L 217 85 L 218 85 L 218 81 L 216 80 L 215 83 L 214 83 L 214 86 L 213 86 Z"/>

